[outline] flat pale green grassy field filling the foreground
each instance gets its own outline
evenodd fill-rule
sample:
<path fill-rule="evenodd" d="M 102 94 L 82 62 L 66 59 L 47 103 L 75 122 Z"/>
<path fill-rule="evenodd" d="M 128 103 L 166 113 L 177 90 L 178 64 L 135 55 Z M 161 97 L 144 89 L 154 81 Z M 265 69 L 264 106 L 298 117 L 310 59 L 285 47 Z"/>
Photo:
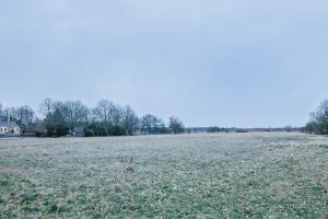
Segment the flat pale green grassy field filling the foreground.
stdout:
<path fill-rule="evenodd" d="M 0 218 L 328 218 L 328 138 L 0 139 Z"/>

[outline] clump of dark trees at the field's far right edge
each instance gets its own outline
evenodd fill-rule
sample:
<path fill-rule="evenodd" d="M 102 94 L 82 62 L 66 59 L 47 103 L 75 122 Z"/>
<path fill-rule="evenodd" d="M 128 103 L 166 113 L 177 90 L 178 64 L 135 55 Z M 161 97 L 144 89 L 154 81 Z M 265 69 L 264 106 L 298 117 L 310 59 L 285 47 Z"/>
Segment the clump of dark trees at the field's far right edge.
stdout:
<path fill-rule="evenodd" d="M 303 131 L 316 135 L 328 135 L 328 100 L 321 102 L 316 112 L 311 113 L 311 120 Z"/>

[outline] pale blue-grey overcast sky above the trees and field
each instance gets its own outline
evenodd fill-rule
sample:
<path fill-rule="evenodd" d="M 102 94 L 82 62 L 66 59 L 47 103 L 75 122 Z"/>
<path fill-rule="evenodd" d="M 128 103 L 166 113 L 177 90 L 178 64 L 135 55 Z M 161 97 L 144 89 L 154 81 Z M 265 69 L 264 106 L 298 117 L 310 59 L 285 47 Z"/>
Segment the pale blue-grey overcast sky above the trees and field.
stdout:
<path fill-rule="evenodd" d="M 328 0 L 0 0 L 0 103 L 106 99 L 187 126 L 302 126 Z"/>

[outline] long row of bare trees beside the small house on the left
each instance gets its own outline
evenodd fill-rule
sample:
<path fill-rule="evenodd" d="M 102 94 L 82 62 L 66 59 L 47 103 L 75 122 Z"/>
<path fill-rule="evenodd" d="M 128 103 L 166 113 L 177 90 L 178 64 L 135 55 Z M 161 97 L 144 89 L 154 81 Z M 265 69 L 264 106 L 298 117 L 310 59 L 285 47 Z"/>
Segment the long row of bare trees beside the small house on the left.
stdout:
<path fill-rule="evenodd" d="M 110 101 L 98 101 L 87 107 L 80 101 L 52 101 L 45 99 L 39 105 L 43 119 L 30 106 L 5 107 L 0 104 L 0 118 L 17 123 L 23 135 L 37 137 L 60 136 L 131 136 L 136 134 L 180 134 L 185 126 L 172 116 L 168 125 L 157 116 L 147 114 L 138 117 L 130 106 Z"/>

